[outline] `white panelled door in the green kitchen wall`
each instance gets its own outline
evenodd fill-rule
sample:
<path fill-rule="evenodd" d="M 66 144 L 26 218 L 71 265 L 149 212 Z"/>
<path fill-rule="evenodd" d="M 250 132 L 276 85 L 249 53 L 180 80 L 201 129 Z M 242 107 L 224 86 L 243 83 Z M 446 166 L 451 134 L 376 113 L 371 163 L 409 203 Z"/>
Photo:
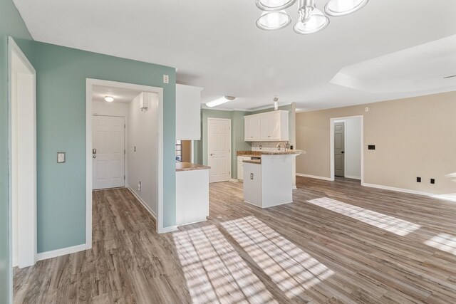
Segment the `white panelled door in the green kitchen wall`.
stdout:
<path fill-rule="evenodd" d="M 209 182 L 226 182 L 231 178 L 231 120 L 207 119 Z"/>

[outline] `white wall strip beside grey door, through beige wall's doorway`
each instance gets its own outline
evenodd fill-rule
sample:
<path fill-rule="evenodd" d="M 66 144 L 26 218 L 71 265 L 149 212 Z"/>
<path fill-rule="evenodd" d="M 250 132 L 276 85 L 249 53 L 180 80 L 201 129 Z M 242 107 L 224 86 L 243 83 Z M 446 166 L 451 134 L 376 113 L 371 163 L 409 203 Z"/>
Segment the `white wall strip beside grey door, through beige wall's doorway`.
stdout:
<path fill-rule="evenodd" d="M 345 177 L 361 179 L 361 118 L 345 120 Z"/>

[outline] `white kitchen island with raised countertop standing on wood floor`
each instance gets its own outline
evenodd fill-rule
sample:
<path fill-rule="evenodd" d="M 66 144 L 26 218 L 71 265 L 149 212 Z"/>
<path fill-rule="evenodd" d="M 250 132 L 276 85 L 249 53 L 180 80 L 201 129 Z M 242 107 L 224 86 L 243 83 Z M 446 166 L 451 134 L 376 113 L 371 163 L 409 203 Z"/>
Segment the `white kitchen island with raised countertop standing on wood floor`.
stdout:
<path fill-rule="evenodd" d="M 293 159 L 301 150 L 262 151 L 244 160 L 244 201 L 260 208 L 293 202 Z"/>

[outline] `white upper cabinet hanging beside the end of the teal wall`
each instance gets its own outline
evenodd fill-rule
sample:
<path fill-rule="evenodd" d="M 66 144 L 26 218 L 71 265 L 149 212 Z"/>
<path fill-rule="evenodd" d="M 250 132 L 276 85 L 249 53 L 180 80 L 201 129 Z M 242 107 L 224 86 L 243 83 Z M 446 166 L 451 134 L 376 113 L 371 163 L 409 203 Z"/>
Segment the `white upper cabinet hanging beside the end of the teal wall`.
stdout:
<path fill-rule="evenodd" d="M 176 140 L 201 140 L 201 91 L 176 85 Z"/>

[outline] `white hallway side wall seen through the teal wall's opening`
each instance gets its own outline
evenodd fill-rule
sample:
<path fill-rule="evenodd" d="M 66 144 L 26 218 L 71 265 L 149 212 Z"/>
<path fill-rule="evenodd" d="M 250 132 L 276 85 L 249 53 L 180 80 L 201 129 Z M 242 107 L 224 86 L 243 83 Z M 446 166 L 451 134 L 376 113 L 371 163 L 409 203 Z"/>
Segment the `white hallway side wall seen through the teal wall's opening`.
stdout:
<path fill-rule="evenodd" d="M 158 95 L 152 95 L 152 102 L 145 111 L 140 110 L 138 95 L 129 104 L 127 123 L 128 184 L 137 196 L 155 215 L 158 209 Z M 136 147 L 136 151 L 135 151 Z M 138 184 L 141 182 L 141 191 Z"/>

